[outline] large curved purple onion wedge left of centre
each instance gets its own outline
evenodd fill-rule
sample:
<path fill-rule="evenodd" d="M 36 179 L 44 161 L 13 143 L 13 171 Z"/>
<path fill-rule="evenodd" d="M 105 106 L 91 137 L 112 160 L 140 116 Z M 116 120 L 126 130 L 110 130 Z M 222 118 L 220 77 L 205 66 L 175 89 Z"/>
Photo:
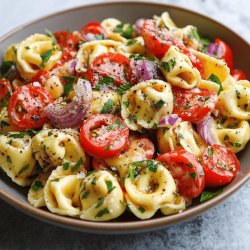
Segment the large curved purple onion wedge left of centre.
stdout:
<path fill-rule="evenodd" d="M 91 98 L 92 88 L 89 81 L 79 79 L 75 86 L 76 97 L 71 103 L 49 104 L 46 115 L 50 122 L 57 128 L 75 127 L 82 123 Z"/>

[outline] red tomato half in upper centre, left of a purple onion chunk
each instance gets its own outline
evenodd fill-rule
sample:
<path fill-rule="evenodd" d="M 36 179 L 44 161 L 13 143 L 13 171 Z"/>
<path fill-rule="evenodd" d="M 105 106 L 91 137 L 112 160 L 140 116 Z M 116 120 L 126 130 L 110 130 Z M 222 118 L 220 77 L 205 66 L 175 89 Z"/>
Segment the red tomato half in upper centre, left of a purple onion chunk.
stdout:
<path fill-rule="evenodd" d="M 95 58 L 89 67 L 86 77 L 96 85 L 105 77 L 112 77 L 115 85 L 131 82 L 132 67 L 130 59 L 118 53 L 102 54 Z"/>

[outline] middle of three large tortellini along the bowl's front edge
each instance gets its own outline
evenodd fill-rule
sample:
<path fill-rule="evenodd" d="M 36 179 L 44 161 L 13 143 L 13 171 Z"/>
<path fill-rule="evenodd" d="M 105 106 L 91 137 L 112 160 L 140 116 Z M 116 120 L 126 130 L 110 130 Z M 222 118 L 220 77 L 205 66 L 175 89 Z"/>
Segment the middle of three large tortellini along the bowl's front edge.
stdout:
<path fill-rule="evenodd" d="M 106 221 L 120 216 L 126 209 L 117 179 L 106 170 L 87 176 L 81 186 L 80 218 Z"/>

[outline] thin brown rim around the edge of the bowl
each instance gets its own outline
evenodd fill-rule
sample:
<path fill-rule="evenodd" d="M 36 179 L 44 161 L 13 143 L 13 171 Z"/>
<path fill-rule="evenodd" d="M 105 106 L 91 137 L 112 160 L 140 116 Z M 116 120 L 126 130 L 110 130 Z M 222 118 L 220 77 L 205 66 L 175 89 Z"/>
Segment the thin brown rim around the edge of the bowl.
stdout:
<path fill-rule="evenodd" d="M 21 31 L 22 29 L 29 27 L 37 22 L 40 22 L 42 20 L 45 20 L 47 18 L 51 18 L 57 15 L 65 14 L 68 12 L 72 11 L 77 11 L 82 8 L 92 8 L 95 6 L 107 6 L 107 5 L 127 5 L 127 4 L 146 4 L 150 5 L 152 7 L 154 6 L 159 6 L 159 7 L 166 7 L 166 8 L 172 8 L 176 10 L 181 10 L 188 12 L 192 15 L 199 16 L 203 19 L 207 19 L 210 22 L 214 22 L 215 24 L 222 26 L 224 29 L 227 31 L 233 33 L 235 36 L 237 36 L 238 39 L 242 40 L 243 43 L 245 43 L 249 48 L 250 45 L 249 43 L 239 36 L 236 32 L 228 28 L 226 25 L 204 15 L 201 13 L 198 13 L 196 11 L 186 9 L 184 7 L 180 7 L 178 5 L 174 4 L 169 4 L 169 3 L 159 3 L 155 2 L 152 0 L 125 0 L 125 1 L 98 1 L 94 3 L 85 3 L 81 4 L 77 7 L 73 8 L 68 8 L 65 10 L 57 11 L 55 13 L 49 14 L 49 15 L 44 15 L 42 17 L 33 19 L 32 21 L 26 22 L 22 25 L 19 25 L 18 27 L 12 29 L 11 31 L 7 32 L 5 35 L 3 35 L 0 38 L 0 43 L 7 39 L 9 36 L 13 35 L 14 33 Z M 250 168 L 249 168 L 250 169 Z M 116 234 L 124 234 L 124 233 L 133 233 L 133 232 L 145 232 L 145 231 L 152 231 L 160 228 L 167 227 L 171 224 L 178 223 L 185 221 L 187 219 L 190 219 L 194 216 L 199 215 L 201 212 L 205 212 L 211 207 L 214 207 L 215 205 L 218 205 L 221 203 L 223 200 L 231 196 L 234 192 L 236 192 L 245 182 L 248 181 L 250 178 L 250 171 L 248 171 L 243 177 L 241 177 L 238 182 L 236 182 L 233 186 L 229 187 L 228 189 L 224 190 L 221 194 L 215 196 L 213 199 L 208 200 L 206 202 L 200 203 L 199 205 L 196 205 L 190 209 L 187 209 L 183 211 L 182 213 L 179 214 L 174 214 L 171 216 L 166 216 L 166 217 L 160 217 L 160 218 L 151 218 L 148 220 L 142 220 L 142 221 L 128 221 L 128 222 L 94 222 L 94 221 L 85 221 L 85 220 L 80 220 L 77 218 L 70 218 L 70 217 L 65 217 L 65 216 L 60 216 L 57 214 L 53 214 L 49 211 L 45 211 L 42 209 L 35 208 L 31 206 L 27 201 L 22 201 L 19 200 L 18 198 L 15 198 L 12 196 L 10 193 L 6 193 L 4 190 L 0 188 L 0 198 L 10 205 L 14 206 L 15 208 L 23 211 L 24 213 L 31 215 L 33 217 L 36 217 L 40 220 L 58 225 L 58 226 L 63 226 L 63 227 L 68 227 L 71 229 L 83 231 L 83 232 L 92 232 L 92 233 L 105 233 L 105 234 L 111 234 L 111 233 L 116 233 Z"/>

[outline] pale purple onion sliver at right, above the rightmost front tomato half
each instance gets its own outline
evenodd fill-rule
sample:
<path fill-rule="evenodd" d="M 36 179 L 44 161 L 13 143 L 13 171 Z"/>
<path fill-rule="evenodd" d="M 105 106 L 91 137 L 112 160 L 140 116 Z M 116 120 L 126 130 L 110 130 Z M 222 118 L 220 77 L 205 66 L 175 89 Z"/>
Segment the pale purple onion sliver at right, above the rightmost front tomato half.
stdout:
<path fill-rule="evenodd" d="M 213 123 L 214 123 L 213 117 L 207 115 L 197 124 L 197 131 L 199 135 L 208 145 L 216 144 L 216 140 L 212 132 Z"/>

